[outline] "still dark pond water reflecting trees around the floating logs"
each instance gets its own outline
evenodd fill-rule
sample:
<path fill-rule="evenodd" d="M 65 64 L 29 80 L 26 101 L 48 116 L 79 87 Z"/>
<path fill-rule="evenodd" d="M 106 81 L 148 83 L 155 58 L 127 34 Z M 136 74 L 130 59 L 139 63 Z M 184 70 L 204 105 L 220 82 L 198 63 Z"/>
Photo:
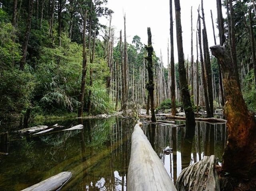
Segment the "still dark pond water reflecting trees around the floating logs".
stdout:
<path fill-rule="evenodd" d="M 54 125 L 44 122 L 35 125 Z M 176 121 L 176 124 L 183 122 Z M 77 120 L 58 121 L 66 127 Z M 73 173 L 64 191 L 124 191 L 130 158 L 131 135 L 136 122 L 126 118 L 86 119 L 84 130 L 41 136 L 10 133 L 10 142 L 0 145 L 0 190 L 20 191 L 62 171 Z M 223 124 L 196 123 L 195 135 L 184 141 L 184 127 L 144 124 L 144 133 L 175 181 L 185 167 L 204 155 L 221 162 L 226 142 Z M 170 155 L 164 148 L 173 148 Z"/>

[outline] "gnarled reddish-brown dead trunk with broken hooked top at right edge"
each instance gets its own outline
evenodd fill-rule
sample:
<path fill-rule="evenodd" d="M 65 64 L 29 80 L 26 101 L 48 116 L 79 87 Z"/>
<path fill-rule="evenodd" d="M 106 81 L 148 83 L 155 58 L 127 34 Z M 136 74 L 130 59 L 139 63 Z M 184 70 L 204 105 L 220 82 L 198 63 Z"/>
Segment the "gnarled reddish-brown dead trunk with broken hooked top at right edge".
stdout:
<path fill-rule="evenodd" d="M 232 61 L 220 45 L 210 47 L 220 62 L 226 93 L 224 114 L 227 118 L 228 141 L 222 157 L 222 170 L 247 179 L 256 175 L 256 120 L 248 111 Z"/>

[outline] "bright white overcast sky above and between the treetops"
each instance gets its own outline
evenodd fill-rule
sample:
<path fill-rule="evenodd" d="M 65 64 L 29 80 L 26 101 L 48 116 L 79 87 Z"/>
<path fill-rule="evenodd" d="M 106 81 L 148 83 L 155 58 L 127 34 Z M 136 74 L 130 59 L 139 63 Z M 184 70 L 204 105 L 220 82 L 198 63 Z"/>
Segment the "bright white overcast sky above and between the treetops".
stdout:
<path fill-rule="evenodd" d="M 189 58 L 189 60 L 191 57 L 191 6 L 193 12 L 194 58 L 196 59 L 196 24 L 198 17 L 197 9 L 200 3 L 201 0 L 180 0 L 184 56 L 186 59 Z M 178 52 L 176 42 L 174 1 L 172 4 L 174 19 L 174 61 L 176 63 L 178 62 Z M 123 16 L 126 14 L 127 42 L 132 43 L 132 38 L 134 35 L 138 35 L 141 38 L 142 43 L 147 44 L 147 27 L 150 27 L 154 51 L 158 57 L 160 57 L 160 52 L 162 52 L 164 66 L 168 65 L 167 46 L 168 39 L 170 39 L 169 0 L 108 0 L 106 6 L 114 11 L 114 14 L 112 15 L 111 26 L 115 30 L 116 43 L 118 43 L 119 40 L 118 37 L 120 30 L 122 30 L 122 32 L 124 31 Z M 214 35 L 210 14 L 211 9 L 214 19 L 216 41 L 218 44 L 219 38 L 218 29 L 216 28 L 216 1 L 204 0 L 204 14 L 209 46 L 214 45 Z M 225 14 L 224 10 L 222 12 Z M 109 21 L 105 18 L 101 18 L 100 23 L 109 26 Z"/>

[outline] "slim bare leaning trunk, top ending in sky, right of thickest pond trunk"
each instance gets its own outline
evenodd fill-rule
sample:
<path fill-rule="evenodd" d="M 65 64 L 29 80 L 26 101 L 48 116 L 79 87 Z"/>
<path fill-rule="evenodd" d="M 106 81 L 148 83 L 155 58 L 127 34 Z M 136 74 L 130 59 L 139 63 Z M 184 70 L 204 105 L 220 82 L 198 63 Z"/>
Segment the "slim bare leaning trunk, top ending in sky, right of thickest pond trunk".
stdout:
<path fill-rule="evenodd" d="M 206 106 L 206 112 L 210 116 L 210 106 L 209 106 L 208 93 L 207 93 L 206 77 L 205 77 L 205 72 L 204 72 L 204 59 L 203 59 L 203 52 L 202 52 L 202 36 L 201 36 L 201 20 L 200 20 L 199 12 L 198 12 L 198 43 L 199 43 L 199 50 L 200 50 L 201 78 L 202 78 L 202 85 L 203 85 L 203 89 L 204 89 L 205 106 Z"/>

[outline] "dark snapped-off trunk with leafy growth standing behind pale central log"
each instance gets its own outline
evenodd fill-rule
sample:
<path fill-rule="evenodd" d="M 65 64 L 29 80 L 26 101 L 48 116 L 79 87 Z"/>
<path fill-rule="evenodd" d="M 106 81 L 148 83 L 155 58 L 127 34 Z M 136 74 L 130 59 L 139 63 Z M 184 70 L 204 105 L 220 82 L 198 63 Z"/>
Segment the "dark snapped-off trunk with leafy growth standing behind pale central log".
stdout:
<path fill-rule="evenodd" d="M 146 46 L 146 50 L 148 51 L 148 56 L 146 57 L 146 60 L 148 61 L 148 64 L 146 65 L 148 69 L 148 83 L 146 85 L 146 88 L 150 96 L 151 121 L 156 122 L 155 109 L 154 109 L 154 75 L 153 75 L 153 61 L 152 61 L 152 55 L 153 55 L 154 49 L 152 47 L 151 38 L 152 38 L 151 30 L 148 27 L 148 45 Z"/>

